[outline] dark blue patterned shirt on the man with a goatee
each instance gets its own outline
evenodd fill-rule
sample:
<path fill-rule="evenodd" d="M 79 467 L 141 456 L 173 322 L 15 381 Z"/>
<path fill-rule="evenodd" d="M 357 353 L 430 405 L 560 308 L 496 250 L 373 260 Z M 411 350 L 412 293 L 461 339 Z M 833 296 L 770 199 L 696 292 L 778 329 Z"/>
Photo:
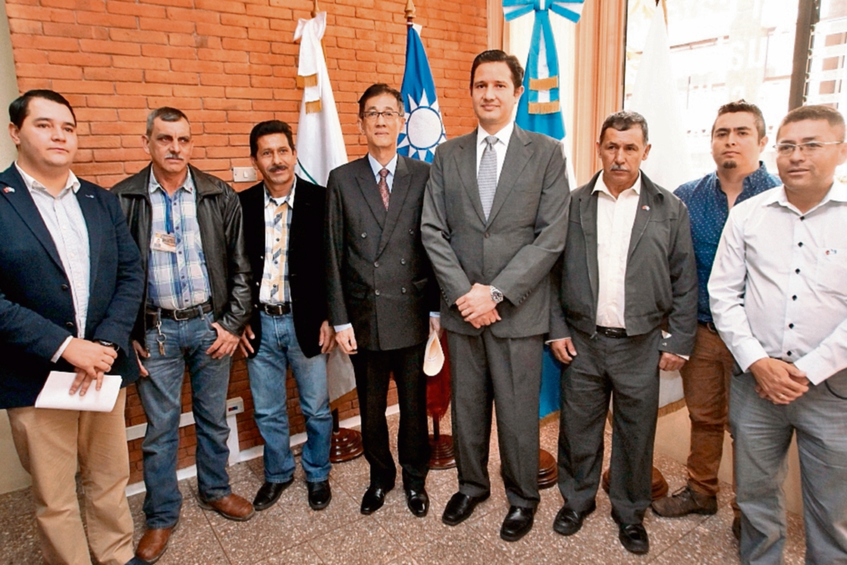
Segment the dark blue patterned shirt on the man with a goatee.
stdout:
<path fill-rule="evenodd" d="M 745 178 L 744 188 L 735 200 L 735 204 L 740 204 L 780 184 L 782 183 L 779 178 L 769 174 L 765 164 L 760 161 L 759 168 Z M 721 181 L 717 178 L 717 172 L 687 182 L 673 193 L 685 202 L 691 218 L 691 239 L 694 241 L 694 254 L 697 261 L 697 320 L 704 323 L 711 322 L 709 291 L 706 286 L 709 284 L 711 263 L 715 262 L 717 243 L 721 241 L 723 225 L 727 223 L 729 214 L 727 195 L 721 190 Z"/>

